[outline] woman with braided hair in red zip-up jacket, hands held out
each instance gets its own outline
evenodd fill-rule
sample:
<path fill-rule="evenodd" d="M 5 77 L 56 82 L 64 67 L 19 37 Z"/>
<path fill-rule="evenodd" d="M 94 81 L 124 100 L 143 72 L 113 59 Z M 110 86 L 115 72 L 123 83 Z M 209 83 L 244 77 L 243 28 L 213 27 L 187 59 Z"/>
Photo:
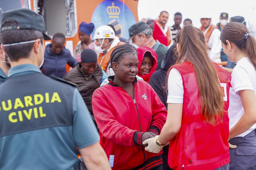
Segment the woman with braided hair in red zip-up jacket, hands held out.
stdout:
<path fill-rule="evenodd" d="M 138 65 L 131 45 L 117 46 L 110 57 L 115 75 L 94 91 L 92 109 L 112 169 L 162 170 L 162 153 L 146 152 L 142 142 L 160 133 L 167 112 L 152 87 L 137 80 Z"/>

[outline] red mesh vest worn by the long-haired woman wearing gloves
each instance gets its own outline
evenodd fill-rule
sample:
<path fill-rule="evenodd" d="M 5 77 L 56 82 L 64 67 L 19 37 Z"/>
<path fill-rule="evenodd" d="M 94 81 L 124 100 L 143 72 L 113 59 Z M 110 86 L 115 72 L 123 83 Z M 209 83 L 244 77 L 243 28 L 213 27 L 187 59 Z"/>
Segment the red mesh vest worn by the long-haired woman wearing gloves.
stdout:
<path fill-rule="evenodd" d="M 213 63 L 224 91 L 224 117 L 216 126 L 205 122 L 201 115 L 199 90 L 193 65 L 185 61 L 174 65 L 181 74 L 184 88 L 181 129 L 170 141 L 168 164 L 173 169 L 216 169 L 230 162 L 229 88 L 231 75 Z"/>

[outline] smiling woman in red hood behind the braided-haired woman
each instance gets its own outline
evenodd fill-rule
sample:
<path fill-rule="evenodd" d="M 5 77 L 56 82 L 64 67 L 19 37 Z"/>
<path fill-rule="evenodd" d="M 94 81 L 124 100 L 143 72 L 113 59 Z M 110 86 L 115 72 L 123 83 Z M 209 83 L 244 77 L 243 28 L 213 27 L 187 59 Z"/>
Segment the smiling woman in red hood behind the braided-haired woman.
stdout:
<path fill-rule="evenodd" d="M 157 67 L 157 54 L 149 47 L 139 47 L 138 52 L 138 76 L 143 78 L 144 81 L 148 82 L 152 73 L 156 71 Z"/>

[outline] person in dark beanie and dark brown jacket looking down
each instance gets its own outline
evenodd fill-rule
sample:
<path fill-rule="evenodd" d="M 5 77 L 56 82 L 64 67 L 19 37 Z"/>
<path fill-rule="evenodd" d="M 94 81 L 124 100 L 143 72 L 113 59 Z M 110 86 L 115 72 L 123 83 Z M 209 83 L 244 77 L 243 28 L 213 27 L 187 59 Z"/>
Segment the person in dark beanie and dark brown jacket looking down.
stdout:
<path fill-rule="evenodd" d="M 81 60 L 82 61 L 78 63 L 76 67 L 67 73 L 64 79 L 77 84 L 78 91 L 82 95 L 96 125 L 92 113 L 92 93 L 100 87 L 100 80 L 103 73 L 100 65 L 97 63 L 97 55 L 94 50 L 83 50 L 81 53 Z"/>

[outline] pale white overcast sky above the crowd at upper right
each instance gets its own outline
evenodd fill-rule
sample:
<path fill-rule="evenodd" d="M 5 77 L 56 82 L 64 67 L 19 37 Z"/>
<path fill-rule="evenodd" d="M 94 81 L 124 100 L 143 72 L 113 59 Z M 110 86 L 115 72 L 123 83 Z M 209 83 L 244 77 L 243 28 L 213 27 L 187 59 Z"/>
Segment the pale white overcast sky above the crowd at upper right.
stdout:
<path fill-rule="evenodd" d="M 212 16 L 212 23 L 217 24 L 221 12 L 232 16 L 243 16 L 251 34 L 256 35 L 256 0 L 139 0 L 138 15 L 141 18 L 156 18 L 163 10 L 169 12 L 168 25 L 174 24 L 173 17 L 176 12 L 182 14 L 182 24 L 185 18 L 190 18 L 195 27 L 200 27 L 201 14 Z M 212 2 L 212 3 L 210 3 Z M 207 3 L 207 5 L 205 5 Z"/>

